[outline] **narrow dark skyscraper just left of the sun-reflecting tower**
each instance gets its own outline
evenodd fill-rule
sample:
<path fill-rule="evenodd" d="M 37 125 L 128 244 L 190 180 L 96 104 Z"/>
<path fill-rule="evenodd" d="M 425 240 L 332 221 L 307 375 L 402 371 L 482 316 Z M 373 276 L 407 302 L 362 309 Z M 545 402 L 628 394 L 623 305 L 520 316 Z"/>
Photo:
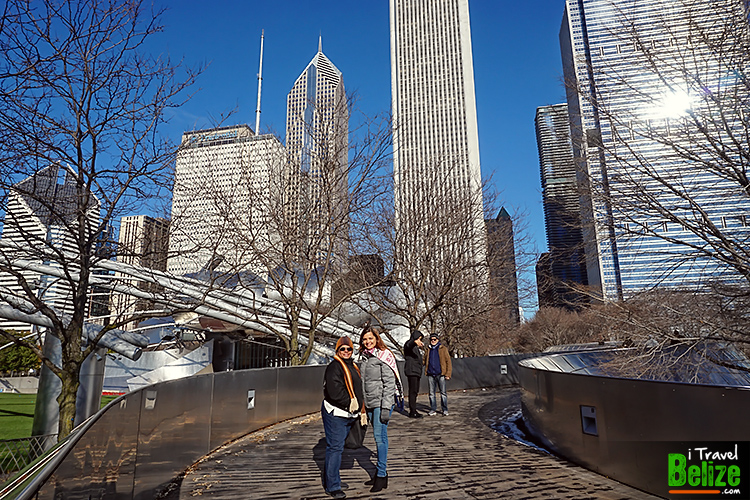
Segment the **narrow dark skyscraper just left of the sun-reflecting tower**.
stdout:
<path fill-rule="evenodd" d="M 549 246 L 547 266 L 540 267 L 550 274 L 545 283 L 549 287 L 545 297 L 552 297 L 553 304 L 547 305 L 574 308 L 584 300 L 583 295 L 574 290 L 575 286 L 588 285 L 588 280 L 567 104 L 537 108 L 535 124 Z"/>

